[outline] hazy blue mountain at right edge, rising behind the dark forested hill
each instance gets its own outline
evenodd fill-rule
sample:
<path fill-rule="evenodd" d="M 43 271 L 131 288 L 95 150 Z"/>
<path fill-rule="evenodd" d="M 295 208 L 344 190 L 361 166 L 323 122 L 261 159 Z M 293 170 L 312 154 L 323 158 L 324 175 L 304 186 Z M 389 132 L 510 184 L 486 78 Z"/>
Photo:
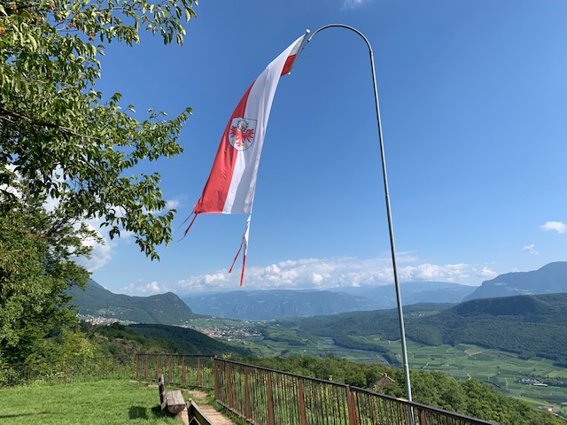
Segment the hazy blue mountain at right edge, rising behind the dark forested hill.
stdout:
<path fill-rule="evenodd" d="M 561 292 L 567 292 L 567 261 L 549 263 L 532 272 L 501 274 L 482 282 L 477 290 L 463 300 Z"/>

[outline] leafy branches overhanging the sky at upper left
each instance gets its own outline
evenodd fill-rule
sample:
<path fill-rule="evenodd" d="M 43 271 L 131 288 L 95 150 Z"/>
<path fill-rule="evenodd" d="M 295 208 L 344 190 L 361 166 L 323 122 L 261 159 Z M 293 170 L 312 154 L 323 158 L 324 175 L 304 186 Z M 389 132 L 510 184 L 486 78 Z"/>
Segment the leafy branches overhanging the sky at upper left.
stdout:
<path fill-rule="evenodd" d="M 134 118 L 120 93 L 96 90 L 98 58 L 140 33 L 182 44 L 194 0 L 18 0 L 0 4 L 0 197 L 14 179 L 59 201 L 74 220 L 100 217 L 111 237 L 127 230 L 151 259 L 171 241 L 173 210 L 159 174 L 132 174 L 141 161 L 171 158 L 190 108 L 173 119 Z"/>

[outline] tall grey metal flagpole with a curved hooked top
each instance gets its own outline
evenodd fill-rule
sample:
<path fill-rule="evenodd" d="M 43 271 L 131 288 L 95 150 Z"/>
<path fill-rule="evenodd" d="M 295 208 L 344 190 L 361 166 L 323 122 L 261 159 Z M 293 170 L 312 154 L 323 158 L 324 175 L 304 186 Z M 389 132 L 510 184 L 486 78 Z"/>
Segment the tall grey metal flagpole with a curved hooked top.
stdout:
<path fill-rule="evenodd" d="M 320 31 L 330 27 L 342 27 L 346 29 L 350 29 L 354 33 L 360 35 L 366 45 L 369 47 L 370 53 L 370 66 L 372 68 L 372 83 L 374 84 L 374 103 L 376 104 L 376 118 L 378 123 L 378 140 L 380 142 L 380 157 L 382 158 L 382 174 L 384 177 L 384 194 L 386 199 L 386 213 L 388 216 L 388 230 L 390 232 L 390 246 L 392 251 L 392 267 L 393 267 L 393 281 L 394 286 L 396 288 L 396 300 L 398 302 L 398 320 L 400 321 L 400 339 L 401 339 L 401 354 L 402 359 L 404 362 L 404 378 L 406 383 L 406 397 L 409 401 L 411 399 L 411 383 L 409 382 L 409 365 L 408 365 L 408 349 L 406 347 L 406 330 L 404 328 L 404 316 L 401 307 L 401 296 L 400 296 L 400 283 L 398 282 L 398 267 L 396 266 L 396 249 L 393 242 L 393 226 L 392 226 L 392 212 L 390 209 L 390 194 L 388 190 L 388 176 L 386 174 L 386 159 L 384 155 L 384 141 L 382 138 L 382 121 L 380 120 L 380 105 L 378 103 L 378 89 L 377 89 L 377 82 L 376 82 L 376 70 L 374 67 L 374 53 L 372 52 L 372 46 L 370 46 L 370 42 L 368 38 L 366 38 L 358 29 L 349 27 L 343 24 L 329 24 L 325 25 L 324 27 L 320 27 L 313 33 L 305 43 L 304 49 L 307 47 L 307 44 L 311 41 L 313 37 Z"/>

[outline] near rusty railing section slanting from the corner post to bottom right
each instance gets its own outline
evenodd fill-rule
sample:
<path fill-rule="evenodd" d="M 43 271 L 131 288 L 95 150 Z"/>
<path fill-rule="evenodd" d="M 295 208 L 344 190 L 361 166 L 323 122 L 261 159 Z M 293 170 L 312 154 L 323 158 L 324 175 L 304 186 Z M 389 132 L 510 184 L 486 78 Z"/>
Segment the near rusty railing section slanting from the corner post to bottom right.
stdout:
<path fill-rule="evenodd" d="M 374 391 L 214 359 L 214 398 L 255 425 L 493 425 Z"/>

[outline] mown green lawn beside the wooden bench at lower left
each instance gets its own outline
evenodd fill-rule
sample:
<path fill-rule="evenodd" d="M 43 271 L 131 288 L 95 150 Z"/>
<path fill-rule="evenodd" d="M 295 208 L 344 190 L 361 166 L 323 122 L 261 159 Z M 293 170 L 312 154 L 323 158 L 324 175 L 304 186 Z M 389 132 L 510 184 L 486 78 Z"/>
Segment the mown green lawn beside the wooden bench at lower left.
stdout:
<path fill-rule="evenodd" d="M 159 410 L 157 388 L 127 380 L 0 389 L 3 425 L 179 424 Z"/>

